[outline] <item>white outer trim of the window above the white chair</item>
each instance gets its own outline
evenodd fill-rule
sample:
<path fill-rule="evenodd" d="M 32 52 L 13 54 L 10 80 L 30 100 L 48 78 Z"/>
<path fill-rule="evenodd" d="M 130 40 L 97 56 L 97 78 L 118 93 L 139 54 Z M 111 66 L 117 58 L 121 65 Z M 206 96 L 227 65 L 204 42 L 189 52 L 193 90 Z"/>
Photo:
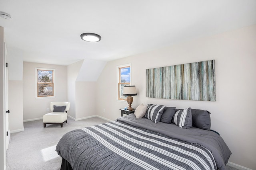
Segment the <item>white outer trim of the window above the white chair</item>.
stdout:
<path fill-rule="evenodd" d="M 46 71 L 52 71 L 52 92 L 53 92 L 53 96 L 38 96 L 38 70 L 46 70 Z M 56 70 L 55 68 L 40 68 L 40 67 L 36 67 L 35 68 L 35 97 L 37 99 L 42 99 L 42 98 L 55 98 L 56 96 Z"/>

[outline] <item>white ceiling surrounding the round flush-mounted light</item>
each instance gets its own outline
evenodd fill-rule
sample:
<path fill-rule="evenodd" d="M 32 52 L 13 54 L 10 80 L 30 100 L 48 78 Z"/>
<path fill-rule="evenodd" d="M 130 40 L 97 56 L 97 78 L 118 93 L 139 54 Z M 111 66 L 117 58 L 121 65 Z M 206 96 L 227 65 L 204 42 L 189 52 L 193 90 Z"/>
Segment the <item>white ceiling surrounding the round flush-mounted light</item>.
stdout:
<path fill-rule="evenodd" d="M 1 0 L 9 55 L 68 65 L 111 61 L 256 24 L 256 0 Z M 97 33 L 97 43 L 80 34 Z"/>

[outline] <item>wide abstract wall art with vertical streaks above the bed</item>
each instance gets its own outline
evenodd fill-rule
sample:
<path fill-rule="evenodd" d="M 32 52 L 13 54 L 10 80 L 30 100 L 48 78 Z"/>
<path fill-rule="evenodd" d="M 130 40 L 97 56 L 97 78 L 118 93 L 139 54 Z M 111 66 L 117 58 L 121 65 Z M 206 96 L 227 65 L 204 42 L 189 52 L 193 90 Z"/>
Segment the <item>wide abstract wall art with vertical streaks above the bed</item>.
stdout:
<path fill-rule="evenodd" d="M 214 60 L 151 68 L 146 74 L 149 98 L 216 101 Z"/>

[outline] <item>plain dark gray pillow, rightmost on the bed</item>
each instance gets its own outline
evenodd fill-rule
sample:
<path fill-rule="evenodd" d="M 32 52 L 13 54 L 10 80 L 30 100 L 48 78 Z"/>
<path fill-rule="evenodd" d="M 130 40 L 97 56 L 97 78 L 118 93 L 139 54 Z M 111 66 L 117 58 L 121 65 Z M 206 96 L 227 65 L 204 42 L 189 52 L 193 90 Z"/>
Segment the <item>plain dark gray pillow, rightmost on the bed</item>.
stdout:
<path fill-rule="evenodd" d="M 192 118 L 193 118 L 193 127 L 200 129 L 208 130 L 211 129 L 211 118 L 210 112 L 207 110 L 200 109 L 191 109 Z"/>

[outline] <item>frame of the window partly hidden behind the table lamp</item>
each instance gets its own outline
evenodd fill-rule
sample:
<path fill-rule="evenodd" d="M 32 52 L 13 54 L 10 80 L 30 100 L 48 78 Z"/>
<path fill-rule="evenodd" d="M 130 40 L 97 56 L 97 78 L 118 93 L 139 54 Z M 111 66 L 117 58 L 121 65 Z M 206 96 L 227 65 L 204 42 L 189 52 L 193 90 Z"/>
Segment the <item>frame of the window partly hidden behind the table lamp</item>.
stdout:
<path fill-rule="evenodd" d="M 130 67 L 130 82 L 129 83 L 122 83 L 120 82 L 121 81 L 121 68 L 126 68 L 126 67 Z M 132 64 L 129 63 L 129 64 L 123 64 L 123 65 L 119 65 L 119 66 L 116 66 L 116 73 L 117 73 L 117 93 L 116 93 L 116 100 L 118 101 L 126 101 L 126 98 L 123 99 L 123 98 L 120 98 L 120 84 L 127 84 L 128 86 L 130 86 L 132 84 Z"/>

